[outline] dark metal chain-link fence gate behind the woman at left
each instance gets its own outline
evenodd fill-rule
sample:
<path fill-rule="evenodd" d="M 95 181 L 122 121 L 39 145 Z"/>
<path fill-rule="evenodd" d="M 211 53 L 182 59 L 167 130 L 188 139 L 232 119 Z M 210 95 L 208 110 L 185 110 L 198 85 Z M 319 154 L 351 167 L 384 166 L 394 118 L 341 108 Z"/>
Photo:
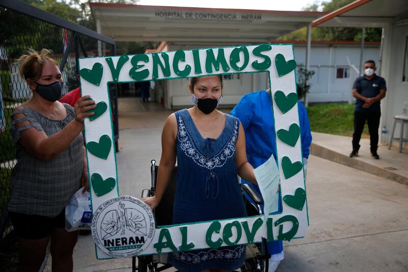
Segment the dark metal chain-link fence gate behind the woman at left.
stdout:
<path fill-rule="evenodd" d="M 51 57 L 60 65 L 65 94 L 79 87 L 78 58 L 115 55 L 115 42 L 112 39 L 88 29 L 81 32 L 84 28 L 74 23 L 28 4 L 16 3 L 14 0 L 0 1 L 0 243 L 12 231 L 7 204 L 16 151 L 10 134 L 10 115 L 15 107 L 32 96 L 32 91 L 18 73 L 16 60 L 26 54 L 29 48 L 36 51 L 42 48 L 52 50 L 54 54 Z M 33 13 L 34 16 L 30 16 Z M 86 35 L 89 33 L 93 37 Z M 116 84 L 111 84 L 110 95 L 114 120 L 118 120 Z M 116 142 L 117 128 L 116 121 Z"/>

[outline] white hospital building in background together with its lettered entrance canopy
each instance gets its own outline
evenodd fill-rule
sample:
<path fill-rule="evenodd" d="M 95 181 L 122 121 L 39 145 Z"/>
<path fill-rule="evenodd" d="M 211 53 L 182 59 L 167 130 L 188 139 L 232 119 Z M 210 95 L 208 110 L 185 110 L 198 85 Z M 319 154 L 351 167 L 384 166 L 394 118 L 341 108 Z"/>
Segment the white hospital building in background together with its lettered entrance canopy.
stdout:
<path fill-rule="evenodd" d="M 286 33 L 307 26 L 325 13 L 263 10 L 152 7 L 91 3 L 97 30 L 116 41 L 163 41 L 165 52 L 227 45 L 273 43 Z M 280 42 L 280 43 L 292 43 Z M 360 67 L 358 42 L 293 42 L 298 67 L 315 71 L 309 102 L 350 102 L 351 86 Z M 378 61 L 379 43 L 366 43 L 363 58 Z M 188 80 L 156 84 L 152 98 L 168 109 L 191 105 Z M 222 105 L 235 105 L 242 95 L 267 88 L 267 76 L 236 74 L 225 78 Z"/>

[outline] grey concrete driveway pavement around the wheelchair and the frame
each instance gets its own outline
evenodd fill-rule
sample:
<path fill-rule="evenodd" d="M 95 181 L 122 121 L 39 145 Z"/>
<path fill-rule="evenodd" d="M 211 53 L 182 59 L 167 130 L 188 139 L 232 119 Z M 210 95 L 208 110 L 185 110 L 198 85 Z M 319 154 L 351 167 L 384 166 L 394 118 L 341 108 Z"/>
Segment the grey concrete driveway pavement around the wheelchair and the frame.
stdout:
<path fill-rule="evenodd" d="M 160 160 L 162 126 L 170 113 L 137 98 L 119 100 L 121 195 L 138 197 L 150 186 L 150 160 Z M 318 144 L 319 135 L 314 137 Z M 382 151 L 379 155 L 385 158 Z M 305 238 L 285 242 L 277 271 L 408 271 L 407 186 L 312 155 L 307 191 L 310 227 Z M 132 266 L 130 258 L 96 260 L 90 236 L 80 236 L 73 259 L 74 271 L 131 271 Z M 50 258 L 44 271 L 50 271 Z"/>

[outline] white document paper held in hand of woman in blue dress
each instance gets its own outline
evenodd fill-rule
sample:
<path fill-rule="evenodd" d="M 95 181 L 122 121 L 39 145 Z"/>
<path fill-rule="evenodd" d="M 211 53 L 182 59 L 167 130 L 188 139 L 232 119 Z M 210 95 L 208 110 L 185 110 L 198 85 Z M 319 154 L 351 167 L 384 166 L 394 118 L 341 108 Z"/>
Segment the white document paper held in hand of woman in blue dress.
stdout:
<path fill-rule="evenodd" d="M 279 169 L 273 155 L 259 167 L 253 169 L 264 199 L 264 214 L 267 217 L 278 209 Z"/>

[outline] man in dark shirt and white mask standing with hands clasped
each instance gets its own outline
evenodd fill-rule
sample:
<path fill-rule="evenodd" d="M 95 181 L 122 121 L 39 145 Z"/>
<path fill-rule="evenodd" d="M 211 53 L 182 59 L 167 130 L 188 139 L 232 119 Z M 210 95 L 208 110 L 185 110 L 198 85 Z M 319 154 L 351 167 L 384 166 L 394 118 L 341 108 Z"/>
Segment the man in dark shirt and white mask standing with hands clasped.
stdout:
<path fill-rule="evenodd" d="M 353 84 L 353 96 L 356 98 L 354 110 L 353 151 L 350 157 L 359 155 L 360 138 L 367 120 L 370 133 L 371 157 L 379 159 L 378 126 L 381 116 L 380 100 L 386 96 L 386 81 L 375 75 L 375 62 L 368 60 L 364 63 L 364 76 L 357 78 Z"/>

